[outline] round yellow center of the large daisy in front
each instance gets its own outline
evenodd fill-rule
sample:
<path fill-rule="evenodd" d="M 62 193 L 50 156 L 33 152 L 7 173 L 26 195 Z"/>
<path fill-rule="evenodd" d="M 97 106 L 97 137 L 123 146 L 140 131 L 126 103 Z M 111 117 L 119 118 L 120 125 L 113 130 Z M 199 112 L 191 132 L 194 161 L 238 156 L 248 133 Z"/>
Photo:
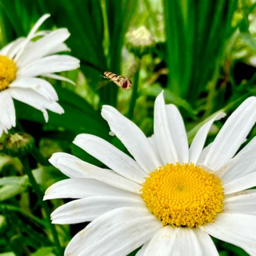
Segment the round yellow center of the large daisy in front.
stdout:
<path fill-rule="evenodd" d="M 142 197 L 164 226 L 196 228 L 222 212 L 220 179 L 193 164 L 166 164 L 150 173 Z"/>

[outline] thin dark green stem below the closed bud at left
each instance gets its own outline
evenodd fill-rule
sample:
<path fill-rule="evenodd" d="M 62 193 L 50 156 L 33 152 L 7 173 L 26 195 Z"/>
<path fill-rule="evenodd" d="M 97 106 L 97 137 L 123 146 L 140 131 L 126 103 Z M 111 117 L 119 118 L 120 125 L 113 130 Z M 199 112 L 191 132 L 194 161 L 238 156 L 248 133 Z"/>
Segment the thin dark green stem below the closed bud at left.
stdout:
<path fill-rule="evenodd" d="M 51 229 L 51 232 L 53 234 L 53 240 L 55 242 L 55 245 L 57 247 L 59 255 L 61 255 L 62 249 L 61 249 L 61 244 L 59 243 L 59 237 L 58 237 L 58 234 L 57 234 L 57 230 L 55 229 L 55 226 L 51 223 L 51 211 L 50 211 L 47 203 L 45 201 L 42 201 L 42 197 L 43 197 L 42 191 L 41 191 L 38 183 L 36 183 L 36 179 L 34 179 L 34 176 L 32 174 L 32 170 L 31 170 L 31 168 L 28 164 L 28 158 L 25 156 L 24 158 L 20 158 L 20 160 L 21 160 L 21 162 L 24 166 L 24 171 L 28 175 L 28 179 L 30 181 L 30 184 L 32 185 L 32 188 L 36 192 L 36 195 L 38 196 L 38 198 L 41 200 L 42 208 L 44 209 L 44 212 L 46 214 L 47 222 L 49 223 L 49 228 Z"/>

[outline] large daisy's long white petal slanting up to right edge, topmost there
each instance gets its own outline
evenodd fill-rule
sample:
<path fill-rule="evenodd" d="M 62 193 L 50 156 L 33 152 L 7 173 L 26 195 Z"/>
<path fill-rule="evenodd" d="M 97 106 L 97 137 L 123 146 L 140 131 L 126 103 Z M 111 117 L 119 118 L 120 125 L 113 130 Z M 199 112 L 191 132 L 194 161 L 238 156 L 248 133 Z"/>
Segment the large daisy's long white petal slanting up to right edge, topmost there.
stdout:
<path fill-rule="evenodd" d="M 256 121 L 256 97 L 247 98 L 236 110 L 214 139 L 203 164 L 212 170 L 220 168 L 237 152 Z"/>

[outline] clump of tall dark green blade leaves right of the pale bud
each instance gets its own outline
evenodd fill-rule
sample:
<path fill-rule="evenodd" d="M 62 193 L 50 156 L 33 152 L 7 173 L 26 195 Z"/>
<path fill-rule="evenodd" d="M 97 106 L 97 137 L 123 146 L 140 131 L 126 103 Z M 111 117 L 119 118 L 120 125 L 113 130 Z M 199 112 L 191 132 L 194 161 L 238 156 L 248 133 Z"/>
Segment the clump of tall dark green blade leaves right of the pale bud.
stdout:
<path fill-rule="evenodd" d="M 236 9 L 236 0 L 164 0 L 168 88 L 193 106 L 219 72 Z"/>

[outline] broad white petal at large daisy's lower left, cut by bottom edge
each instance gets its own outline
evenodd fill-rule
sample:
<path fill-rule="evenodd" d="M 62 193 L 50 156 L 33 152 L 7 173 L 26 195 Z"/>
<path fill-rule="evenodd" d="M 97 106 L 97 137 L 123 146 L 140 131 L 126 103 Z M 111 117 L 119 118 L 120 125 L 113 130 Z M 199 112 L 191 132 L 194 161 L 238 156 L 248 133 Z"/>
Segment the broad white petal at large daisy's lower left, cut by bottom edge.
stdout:
<path fill-rule="evenodd" d="M 161 222 L 147 209 L 122 207 L 90 222 L 73 237 L 65 255 L 127 255 L 161 227 Z"/>

